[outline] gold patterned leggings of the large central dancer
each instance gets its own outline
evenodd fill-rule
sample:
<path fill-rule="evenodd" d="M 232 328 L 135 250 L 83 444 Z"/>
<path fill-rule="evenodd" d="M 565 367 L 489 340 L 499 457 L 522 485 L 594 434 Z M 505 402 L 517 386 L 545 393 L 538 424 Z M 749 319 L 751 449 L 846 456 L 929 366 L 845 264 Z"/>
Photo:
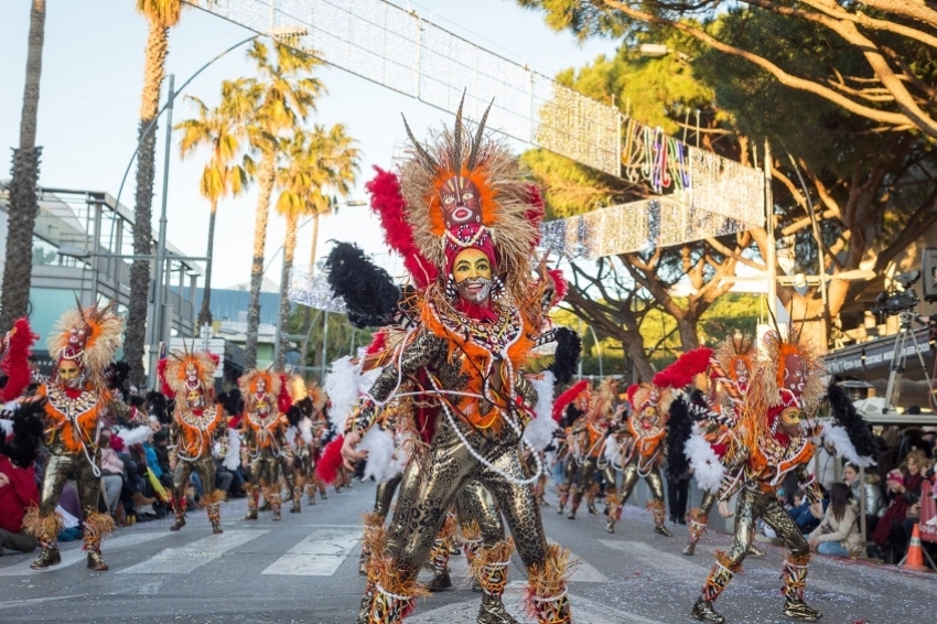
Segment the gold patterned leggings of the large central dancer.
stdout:
<path fill-rule="evenodd" d="M 476 453 L 517 481 L 525 478 L 516 445 L 503 445 L 477 434 L 466 435 Z M 530 485 L 518 485 L 486 467 L 459 440 L 445 421 L 437 422 L 432 445 L 408 466 L 388 538 L 388 550 L 401 580 L 416 578 L 456 494 L 477 481 L 504 513 L 525 567 L 543 564 L 547 539 L 540 507 Z"/>

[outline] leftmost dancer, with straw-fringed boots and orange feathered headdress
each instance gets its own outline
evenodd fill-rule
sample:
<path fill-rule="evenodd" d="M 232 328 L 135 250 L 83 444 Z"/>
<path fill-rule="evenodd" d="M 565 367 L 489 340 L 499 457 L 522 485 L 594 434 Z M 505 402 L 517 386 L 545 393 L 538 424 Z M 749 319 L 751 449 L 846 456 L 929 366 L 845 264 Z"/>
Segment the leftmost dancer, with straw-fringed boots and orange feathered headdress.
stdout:
<path fill-rule="evenodd" d="M 111 305 L 77 308 L 63 314 L 49 341 L 55 368 L 52 378 L 40 386 L 37 396 L 45 398 L 45 442 L 51 455 L 39 508 L 30 509 L 23 521 L 42 547 L 30 566 L 34 570 L 62 562 L 55 541 L 62 519 L 55 507 L 68 480 L 75 481 L 82 504 L 88 568 L 108 569 L 100 541 L 114 529 L 114 519 L 98 512 L 101 483 L 98 433 L 110 401 L 104 370 L 120 346 L 122 329 L 123 321 Z"/>

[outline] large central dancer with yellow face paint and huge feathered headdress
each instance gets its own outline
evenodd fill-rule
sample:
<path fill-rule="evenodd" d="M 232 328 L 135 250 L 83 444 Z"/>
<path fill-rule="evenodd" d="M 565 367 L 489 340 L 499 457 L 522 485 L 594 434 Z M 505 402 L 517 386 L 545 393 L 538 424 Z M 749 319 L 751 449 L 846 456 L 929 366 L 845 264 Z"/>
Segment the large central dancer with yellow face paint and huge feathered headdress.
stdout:
<path fill-rule="evenodd" d="M 391 192 L 389 197 L 402 218 L 388 238 L 409 239 L 405 263 L 411 275 L 424 276 L 410 304 L 416 326 L 349 421 L 344 443 L 354 453 L 377 408 L 395 398 L 406 378 L 420 386 L 420 400 L 429 408 L 430 444 L 417 485 L 401 489 L 407 502 L 398 502 L 386 549 L 373 549 L 359 622 L 399 622 L 412 610 L 417 572 L 446 512 L 464 484 L 477 480 L 511 529 L 528 569 L 537 621 L 567 623 L 568 551 L 547 545 L 529 486 L 536 477 L 525 477 L 519 450 L 537 401 L 521 366 L 546 329 L 545 311 L 556 288 L 546 270 L 531 278 L 542 207 L 521 182 L 517 159 L 484 136 L 484 119 L 470 135 L 460 107 L 454 129 L 434 137 L 434 144 L 419 143 L 409 127 L 408 135 L 413 158 L 401 169 L 402 196 Z M 379 177 L 379 183 L 397 184 L 383 172 Z M 385 223 L 394 220 L 387 216 Z M 509 553 L 510 545 L 499 550 Z M 478 621 L 495 621 L 485 611 L 483 596 Z"/>

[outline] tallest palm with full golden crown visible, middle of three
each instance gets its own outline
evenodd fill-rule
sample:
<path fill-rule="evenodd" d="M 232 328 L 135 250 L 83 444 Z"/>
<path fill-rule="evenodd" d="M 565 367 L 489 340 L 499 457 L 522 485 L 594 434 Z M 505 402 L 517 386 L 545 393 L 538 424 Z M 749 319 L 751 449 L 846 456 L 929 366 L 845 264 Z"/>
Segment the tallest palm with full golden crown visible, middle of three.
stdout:
<path fill-rule="evenodd" d="M 320 60 L 281 43 L 273 44 L 272 58 L 267 46 L 259 41 L 248 52 L 257 64 L 258 78 L 252 85 L 259 89 L 258 106 L 248 126 L 248 138 L 259 161 L 259 187 L 254 223 L 254 258 L 250 266 L 250 303 L 247 309 L 247 344 L 245 368 L 257 365 L 257 331 L 260 327 L 260 286 L 263 280 L 263 252 L 267 243 L 267 220 L 270 197 L 277 179 L 277 163 L 283 137 L 299 128 L 310 110 L 315 109 L 315 98 L 325 93 L 317 78 L 309 74 Z"/>

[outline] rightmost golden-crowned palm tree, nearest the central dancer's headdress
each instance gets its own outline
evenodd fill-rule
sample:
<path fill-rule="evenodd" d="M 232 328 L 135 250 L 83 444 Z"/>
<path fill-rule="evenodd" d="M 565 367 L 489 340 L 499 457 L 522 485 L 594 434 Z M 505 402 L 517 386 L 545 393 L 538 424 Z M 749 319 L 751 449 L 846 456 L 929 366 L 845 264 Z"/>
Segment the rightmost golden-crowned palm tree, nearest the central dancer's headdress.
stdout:
<path fill-rule="evenodd" d="M 297 223 L 299 217 L 311 215 L 317 223 L 319 215 L 332 207 L 329 191 L 347 197 L 355 183 L 360 150 L 355 140 L 345 135 L 345 127 L 336 123 L 327 131 L 314 126 L 310 132 L 298 131 L 283 141 L 287 161 L 278 171 L 277 182 L 283 189 L 277 200 L 277 212 L 287 219 L 283 239 L 283 272 L 280 280 L 280 323 L 290 319 L 288 297 L 290 272 L 297 247 Z M 283 367 L 286 340 L 281 340 L 274 366 Z"/>

